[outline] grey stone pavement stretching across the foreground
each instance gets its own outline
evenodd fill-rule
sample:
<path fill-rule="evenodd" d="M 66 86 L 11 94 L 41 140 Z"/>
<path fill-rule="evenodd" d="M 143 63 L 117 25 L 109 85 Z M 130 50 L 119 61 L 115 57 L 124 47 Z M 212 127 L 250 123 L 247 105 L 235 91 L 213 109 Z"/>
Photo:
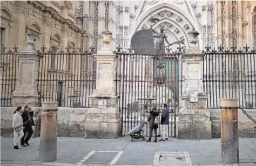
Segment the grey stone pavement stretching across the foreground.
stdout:
<path fill-rule="evenodd" d="M 10 164 L 14 166 L 15 163 L 16 165 L 32 165 L 34 163 L 35 165 L 37 163 L 42 164 L 38 161 L 39 138 L 32 138 L 30 140 L 31 146 L 21 148 L 20 150 L 13 149 L 12 141 L 12 138 L 1 138 L 1 164 Z M 240 162 L 246 162 L 241 164 L 247 164 L 248 166 L 255 165 L 253 163 L 256 161 L 256 158 L 254 157 L 256 156 L 255 146 L 255 138 L 239 139 Z M 131 142 L 129 137 L 122 137 L 116 140 L 86 140 L 84 138 L 58 137 L 58 154 L 56 162 L 76 164 L 92 150 L 124 151 L 116 165 L 150 165 L 153 163 L 155 151 L 188 151 L 190 153 L 193 165 L 216 165 L 220 164 L 221 161 L 220 139 L 170 139 L 169 141 L 165 142 L 146 143 L 144 141 Z M 115 155 L 116 154 L 117 153 L 115 153 Z M 181 153 L 177 153 L 176 156 L 179 156 L 179 154 Z M 168 155 L 166 154 L 166 156 Z M 183 154 L 181 154 L 181 156 L 182 155 Z M 98 155 L 95 156 L 95 158 L 104 158 L 104 155 Z M 100 162 L 104 161 L 100 159 Z"/>

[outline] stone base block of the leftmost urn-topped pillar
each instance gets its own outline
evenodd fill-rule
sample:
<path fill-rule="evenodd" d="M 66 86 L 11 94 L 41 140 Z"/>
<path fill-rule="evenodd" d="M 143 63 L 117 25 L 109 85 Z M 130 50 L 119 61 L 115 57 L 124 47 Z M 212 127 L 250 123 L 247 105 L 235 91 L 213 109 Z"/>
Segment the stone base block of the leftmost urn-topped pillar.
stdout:
<path fill-rule="evenodd" d="M 24 107 L 29 105 L 30 107 L 39 107 L 39 95 L 14 95 L 12 97 L 12 104 L 14 107 Z"/>

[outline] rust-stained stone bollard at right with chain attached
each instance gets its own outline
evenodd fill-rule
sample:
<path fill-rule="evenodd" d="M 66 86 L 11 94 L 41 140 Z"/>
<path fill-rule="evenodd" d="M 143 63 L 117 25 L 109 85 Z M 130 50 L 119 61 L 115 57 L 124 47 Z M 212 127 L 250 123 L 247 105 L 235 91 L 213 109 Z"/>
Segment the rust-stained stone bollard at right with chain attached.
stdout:
<path fill-rule="evenodd" d="M 238 99 L 220 99 L 221 163 L 239 163 Z"/>

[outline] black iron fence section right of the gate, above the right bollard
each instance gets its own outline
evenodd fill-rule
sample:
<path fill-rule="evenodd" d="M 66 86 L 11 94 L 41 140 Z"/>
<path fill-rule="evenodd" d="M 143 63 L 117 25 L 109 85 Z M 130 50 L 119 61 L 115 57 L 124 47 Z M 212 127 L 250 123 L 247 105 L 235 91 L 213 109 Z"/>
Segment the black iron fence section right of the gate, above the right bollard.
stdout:
<path fill-rule="evenodd" d="M 239 106 L 256 108 L 256 50 L 205 47 L 203 85 L 207 107 L 219 108 L 220 98 L 238 98 Z"/>

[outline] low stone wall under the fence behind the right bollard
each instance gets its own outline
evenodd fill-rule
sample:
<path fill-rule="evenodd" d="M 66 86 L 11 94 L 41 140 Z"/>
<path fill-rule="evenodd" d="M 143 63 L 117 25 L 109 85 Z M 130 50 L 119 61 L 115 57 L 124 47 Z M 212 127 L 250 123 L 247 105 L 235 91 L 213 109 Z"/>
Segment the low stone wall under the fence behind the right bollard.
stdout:
<path fill-rule="evenodd" d="M 256 119 L 255 109 L 245 109 L 253 119 Z M 210 109 L 212 121 L 212 137 L 220 137 L 220 109 Z M 248 117 L 238 109 L 238 128 L 241 137 L 256 137 L 256 123 L 253 123 Z"/>

